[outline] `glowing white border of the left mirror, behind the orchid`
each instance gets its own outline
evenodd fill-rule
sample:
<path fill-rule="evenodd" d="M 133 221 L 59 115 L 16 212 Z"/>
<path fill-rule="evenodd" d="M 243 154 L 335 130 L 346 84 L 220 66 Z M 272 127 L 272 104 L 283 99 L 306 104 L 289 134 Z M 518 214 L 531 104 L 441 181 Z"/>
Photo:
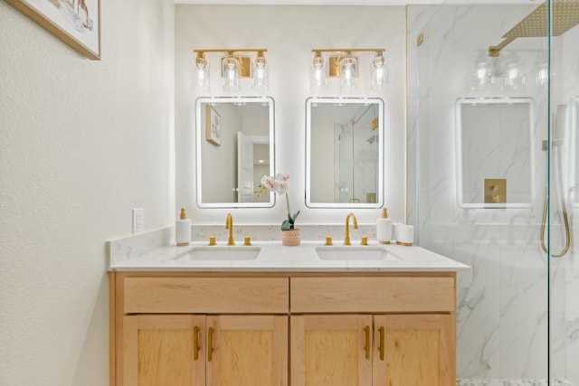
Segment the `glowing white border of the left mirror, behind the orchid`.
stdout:
<path fill-rule="evenodd" d="M 275 101 L 271 97 L 199 97 L 195 100 L 195 192 L 199 208 L 271 208 L 275 205 L 275 193 L 270 193 L 269 202 L 202 202 L 201 146 L 205 127 L 202 127 L 204 106 L 214 103 L 263 103 L 269 107 L 270 175 L 275 175 Z M 203 111 L 202 111 L 203 109 Z"/>

